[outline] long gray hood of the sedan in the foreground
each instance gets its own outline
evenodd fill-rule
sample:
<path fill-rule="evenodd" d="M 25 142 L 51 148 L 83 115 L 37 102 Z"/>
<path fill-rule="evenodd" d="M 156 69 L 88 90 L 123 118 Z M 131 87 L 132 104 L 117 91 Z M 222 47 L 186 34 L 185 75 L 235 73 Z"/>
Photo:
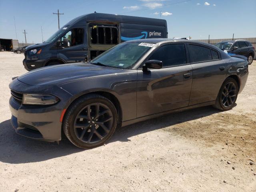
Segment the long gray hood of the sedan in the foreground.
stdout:
<path fill-rule="evenodd" d="M 32 70 L 18 80 L 29 85 L 60 85 L 72 81 L 111 75 L 122 72 L 119 68 L 98 66 L 89 63 L 61 64 Z"/>

